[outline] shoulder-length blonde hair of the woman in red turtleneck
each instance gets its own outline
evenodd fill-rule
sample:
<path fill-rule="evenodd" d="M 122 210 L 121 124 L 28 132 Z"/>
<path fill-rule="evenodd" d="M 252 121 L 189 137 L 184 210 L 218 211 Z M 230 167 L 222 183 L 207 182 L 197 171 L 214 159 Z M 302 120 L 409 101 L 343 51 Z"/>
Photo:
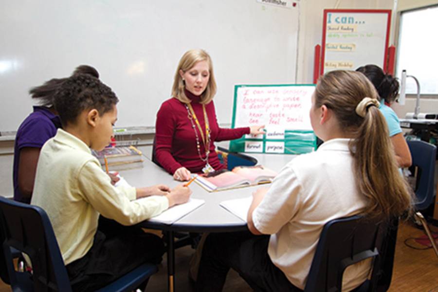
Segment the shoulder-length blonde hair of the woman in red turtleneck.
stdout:
<path fill-rule="evenodd" d="M 190 99 L 184 93 L 185 84 L 180 75 L 180 70 L 186 72 L 192 69 L 193 66 L 200 61 L 207 61 L 208 70 L 210 73 L 207 88 L 201 94 L 201 104 L 208 104 L 210 101 L 212 101 L 216 94 L 216 80 L 215 74 L 213 73 L 213 63 L 211 62 L 210 55 L 201 49 L 190 50 L 185 52 L 181 57 L 180 63 L 178 64 L 178 68 L 175 72 L 175 78 L 172 86 L 172 96 L 183 103 L 190 103 Z"/>

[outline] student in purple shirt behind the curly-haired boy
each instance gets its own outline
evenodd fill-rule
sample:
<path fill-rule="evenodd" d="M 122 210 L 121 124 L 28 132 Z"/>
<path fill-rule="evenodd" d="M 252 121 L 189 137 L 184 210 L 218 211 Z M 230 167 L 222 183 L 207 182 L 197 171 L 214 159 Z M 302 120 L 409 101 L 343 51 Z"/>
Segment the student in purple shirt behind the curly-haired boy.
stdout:
<path fill-rule="evenodd" d="M 73 74 L 85 73 L 99 78 L 99 73 L 91 66 L 81 65 Z M 21 123 L 15 137 L 14 146 L 14 200 L 30 203 L 34 189 L 35 172 L 39 151 L 47 140 L 55 136 L 61 121 L 53 107 L 56 90 L 67 78 L 54 78 L 43 85 L 32 88 L 29 93 L 38 100 L 39 106 Z"/>

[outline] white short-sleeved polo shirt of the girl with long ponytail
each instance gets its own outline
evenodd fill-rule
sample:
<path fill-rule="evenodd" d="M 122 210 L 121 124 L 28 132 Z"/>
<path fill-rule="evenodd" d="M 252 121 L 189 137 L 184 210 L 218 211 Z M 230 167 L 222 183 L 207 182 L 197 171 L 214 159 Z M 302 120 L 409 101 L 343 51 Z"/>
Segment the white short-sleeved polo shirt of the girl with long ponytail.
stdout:
<path fill-rule="evenodd" d="M 253 213 L 256 228 L 271 234 L 268 254 L 291 283 L 304 289 L 325 223 L 361 212 L 349 139 L 332 139 L 317 151 L 300 155 L 274 179 Z M 369 274 L 370 261 L 348 267 L 344 289 L 354 289 Z"/>

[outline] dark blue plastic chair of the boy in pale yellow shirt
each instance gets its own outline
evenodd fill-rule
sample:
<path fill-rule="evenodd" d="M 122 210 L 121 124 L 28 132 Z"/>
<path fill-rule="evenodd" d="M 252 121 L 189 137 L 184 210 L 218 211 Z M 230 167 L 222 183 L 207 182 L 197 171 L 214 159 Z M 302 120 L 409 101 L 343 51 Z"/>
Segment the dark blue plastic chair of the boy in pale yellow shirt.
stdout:
<path fill-rule="evenodd" d="M 46 212 L 33 205 L 0 197 L 3 254 L 13 291 L 72 291 L 52 224 Z M 32 274 L 15 271 L 11 247 L 28 255 Z M 143 264 L 99 291 L 130 291 L 145 287 L 158 271 L 154 264 Z"/>

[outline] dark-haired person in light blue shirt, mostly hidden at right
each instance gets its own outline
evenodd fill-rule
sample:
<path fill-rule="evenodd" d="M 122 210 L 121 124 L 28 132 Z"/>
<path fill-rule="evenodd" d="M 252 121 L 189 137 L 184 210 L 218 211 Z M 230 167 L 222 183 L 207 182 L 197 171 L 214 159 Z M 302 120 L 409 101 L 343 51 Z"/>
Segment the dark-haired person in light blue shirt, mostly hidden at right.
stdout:
<path fill-rule="evenodd" d="M 397 114 L 390 108 L 399 91 L 399 81 L 376 65 L 359 67 L 356 71 L 363 73 L 374 85 L 380 101 L 379 110 L 385 117 L 389 130 L 389 137 L 393 145 L 399 167 L 409 167 L 412 164 L 411 152 L 403 137 L 402 128 Z"/>

